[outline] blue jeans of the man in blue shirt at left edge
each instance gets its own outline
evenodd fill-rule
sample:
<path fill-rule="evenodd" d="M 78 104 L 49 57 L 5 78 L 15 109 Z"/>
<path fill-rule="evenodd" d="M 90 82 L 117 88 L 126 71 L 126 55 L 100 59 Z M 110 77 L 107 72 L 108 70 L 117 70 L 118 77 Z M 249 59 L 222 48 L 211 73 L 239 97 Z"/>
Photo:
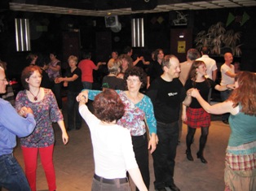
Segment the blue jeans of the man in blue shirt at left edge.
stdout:
<path fill-rule="evenodd" d="M 13 154 L 0 156 L 0 189 L 30 191 L 29 183 Z"/>

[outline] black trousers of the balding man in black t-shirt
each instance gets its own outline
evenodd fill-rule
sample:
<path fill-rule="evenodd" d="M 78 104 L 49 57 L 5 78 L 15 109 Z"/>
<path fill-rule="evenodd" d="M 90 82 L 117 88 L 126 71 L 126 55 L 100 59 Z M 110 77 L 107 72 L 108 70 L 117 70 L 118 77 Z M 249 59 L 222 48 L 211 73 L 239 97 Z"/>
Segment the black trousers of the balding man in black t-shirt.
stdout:
<path fill-rule="evenodd" d="M 163 124 L 157 121 L 157 149 L 152 153 L 155 172 L 155 189 L 174 184 L 174 166 L 179 138 L 178 121 Z"/>

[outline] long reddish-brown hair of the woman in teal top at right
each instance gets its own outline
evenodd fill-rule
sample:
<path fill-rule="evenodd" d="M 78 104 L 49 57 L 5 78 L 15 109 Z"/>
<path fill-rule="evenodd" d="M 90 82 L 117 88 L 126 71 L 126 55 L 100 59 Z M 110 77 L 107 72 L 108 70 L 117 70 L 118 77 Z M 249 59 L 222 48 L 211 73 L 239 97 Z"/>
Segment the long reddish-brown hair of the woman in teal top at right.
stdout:
<path fill-rule="evenodd" d="M 241 104 L 241 111 L 246 115 L 256 115 L 256 74 L 239 72 L 235 80 L 239 87 L 232 91 L 227 100 L 233 102 L 233 107 Z"/>

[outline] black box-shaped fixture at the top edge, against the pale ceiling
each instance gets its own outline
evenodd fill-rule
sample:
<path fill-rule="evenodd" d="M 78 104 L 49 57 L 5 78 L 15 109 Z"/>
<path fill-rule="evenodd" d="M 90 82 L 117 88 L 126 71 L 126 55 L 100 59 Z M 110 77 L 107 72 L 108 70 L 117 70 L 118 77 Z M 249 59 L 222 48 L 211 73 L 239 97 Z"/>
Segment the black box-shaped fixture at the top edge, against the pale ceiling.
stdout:
<path fill-rule="evenodd" d="M 157 0 L 130 0 L 131 11 L 152 10 L 157 7 Z"/>

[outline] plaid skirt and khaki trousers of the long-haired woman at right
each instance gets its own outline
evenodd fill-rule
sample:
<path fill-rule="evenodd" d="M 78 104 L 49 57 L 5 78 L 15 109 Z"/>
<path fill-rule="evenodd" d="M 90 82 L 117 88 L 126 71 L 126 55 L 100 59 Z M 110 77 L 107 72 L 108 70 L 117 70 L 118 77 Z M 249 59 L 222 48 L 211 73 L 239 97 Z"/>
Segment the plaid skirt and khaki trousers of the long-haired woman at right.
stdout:
<path fill-rule="evenodd" d="M 233 154 L 233 153 L 236 154 Z M 252 191 L 256 188 L 256 141 L 227 146 L 225 191 Z"/>

